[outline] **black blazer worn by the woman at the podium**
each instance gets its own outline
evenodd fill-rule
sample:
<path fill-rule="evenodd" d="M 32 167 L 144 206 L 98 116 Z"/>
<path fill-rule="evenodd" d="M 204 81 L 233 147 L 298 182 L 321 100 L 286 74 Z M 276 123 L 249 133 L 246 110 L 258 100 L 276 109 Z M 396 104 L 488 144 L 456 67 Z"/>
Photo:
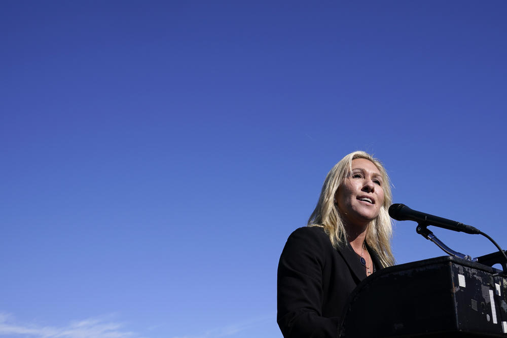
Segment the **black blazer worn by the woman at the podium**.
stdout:
<path fill-rule="evenodd" d="M 369 252 L 379 270 L 378 257 Z M 321 227 L 294 231 L 278 264 L 277 322 L 283 336 L 336 338 L 347 298 L 365 278 L 350 245 L 336 250 Z"/>

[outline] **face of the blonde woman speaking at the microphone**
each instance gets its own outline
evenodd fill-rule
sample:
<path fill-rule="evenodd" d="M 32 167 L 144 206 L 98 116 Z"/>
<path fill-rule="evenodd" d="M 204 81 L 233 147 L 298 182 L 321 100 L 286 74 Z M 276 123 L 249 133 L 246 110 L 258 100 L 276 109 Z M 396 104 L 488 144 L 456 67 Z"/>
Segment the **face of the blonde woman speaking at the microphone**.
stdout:
<path fill-rule="evenodd" d="M 352 160 L 352 172 L 335 195 L 346 226 L 365 227 L 378 216 L 384 203 L 383 184 L 382 175 L 373 162 Z"/>

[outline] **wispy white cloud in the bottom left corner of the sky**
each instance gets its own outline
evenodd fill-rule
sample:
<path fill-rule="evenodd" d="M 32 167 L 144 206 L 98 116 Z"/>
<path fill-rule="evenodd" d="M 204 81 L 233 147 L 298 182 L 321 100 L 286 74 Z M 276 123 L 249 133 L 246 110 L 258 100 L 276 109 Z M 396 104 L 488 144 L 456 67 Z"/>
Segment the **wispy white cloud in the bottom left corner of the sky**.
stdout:
<path fill-rule="evenodd" d="M 0 313 L 0 336 L 23 335 L 34 338 L 140 338 L 134 332 L 121 330 L 121 323 L 104 318 L 89 318 L 65 326 L 41 326 L 18 322 L 11 314 Z"/>

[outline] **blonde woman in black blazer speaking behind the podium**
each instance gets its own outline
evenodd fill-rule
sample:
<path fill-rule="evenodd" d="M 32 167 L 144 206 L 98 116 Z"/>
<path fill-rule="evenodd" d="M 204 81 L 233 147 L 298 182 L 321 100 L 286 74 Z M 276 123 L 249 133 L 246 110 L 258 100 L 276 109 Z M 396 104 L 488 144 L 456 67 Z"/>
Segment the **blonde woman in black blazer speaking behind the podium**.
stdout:
<path fill-rule="evenodd" d="M 390 204 L 389 178 L 371 155 L 351 153 L 331 169 L 308 227 L 289 236 L 280 256 L 277 322 L 284 337 L 337 336 L 352 290 L 394 264 Z"/>

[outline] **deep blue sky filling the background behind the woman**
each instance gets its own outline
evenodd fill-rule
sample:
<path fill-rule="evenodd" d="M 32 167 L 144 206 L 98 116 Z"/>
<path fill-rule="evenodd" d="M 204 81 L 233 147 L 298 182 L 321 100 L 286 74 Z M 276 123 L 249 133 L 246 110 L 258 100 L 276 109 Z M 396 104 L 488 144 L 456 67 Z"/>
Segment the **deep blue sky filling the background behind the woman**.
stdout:
<path fill-rule="evenodd" d="M 281 337 L 283 245 L 358 149 L 395 203 L 507 246 L 506 17 L 505 1 L 0 2 L 0 336 Z M 394 224 L 397 262 L 444 255 L 415 227 Z"/>

